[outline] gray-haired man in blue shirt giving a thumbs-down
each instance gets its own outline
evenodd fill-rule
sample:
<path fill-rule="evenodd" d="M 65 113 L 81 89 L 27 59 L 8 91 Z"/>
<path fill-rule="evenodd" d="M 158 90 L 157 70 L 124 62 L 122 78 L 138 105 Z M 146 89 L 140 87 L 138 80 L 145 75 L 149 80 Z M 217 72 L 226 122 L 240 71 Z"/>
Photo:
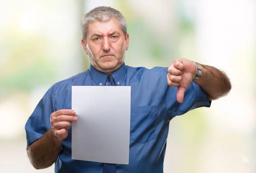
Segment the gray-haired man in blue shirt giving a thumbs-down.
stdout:
<path fill-rule="evenodd" d="M 125 65 L 129 34 L 125 18 L 116 9 L 92 9 L 81 26 L 81 45 L 90 68 L 52 85 L 26 122 L 32 165 L 43 169 L 55 163 L 55 173 L 162 173 L 170 120 L 210 107 L 212 100 L 228 94 L 230 80 L 216 68 L 187 59 L 152 69 Z M 73 85 L 131 86 L 129 164 L 71 158 L 71 125 L 79 121 L 76 110 L 71 110 Z"/>

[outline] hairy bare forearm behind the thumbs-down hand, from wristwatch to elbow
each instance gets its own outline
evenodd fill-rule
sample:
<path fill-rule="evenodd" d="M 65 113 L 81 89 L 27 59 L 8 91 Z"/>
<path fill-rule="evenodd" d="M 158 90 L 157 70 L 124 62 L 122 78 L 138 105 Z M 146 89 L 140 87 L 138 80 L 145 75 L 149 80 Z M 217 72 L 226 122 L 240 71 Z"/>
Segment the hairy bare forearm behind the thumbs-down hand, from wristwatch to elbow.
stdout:
<path fill-rule="evenodd" d="M 201 68 L 202 76 L 195 80 L 195 83 L 206 91 L 209 100 L 218 99 L 229 93 L 231 83 L 224 72 L 208 65 L 201 65 Z"/>

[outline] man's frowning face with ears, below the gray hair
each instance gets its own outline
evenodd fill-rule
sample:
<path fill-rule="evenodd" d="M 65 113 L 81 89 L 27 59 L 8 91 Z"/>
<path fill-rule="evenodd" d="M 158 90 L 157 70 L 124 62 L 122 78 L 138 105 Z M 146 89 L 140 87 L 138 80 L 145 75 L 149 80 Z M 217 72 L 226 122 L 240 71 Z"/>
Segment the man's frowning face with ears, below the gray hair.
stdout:
<path fill-rule="evenodd" d="M 90 23 L 86 40 L 86 45 L 83 39 L 81 44 L 89 55 L 91 64 L 97 70 L 111 74 L 124 62 L 129 35 L 126 34 L 125 41 L 125 35 L 118 20 Z"/>

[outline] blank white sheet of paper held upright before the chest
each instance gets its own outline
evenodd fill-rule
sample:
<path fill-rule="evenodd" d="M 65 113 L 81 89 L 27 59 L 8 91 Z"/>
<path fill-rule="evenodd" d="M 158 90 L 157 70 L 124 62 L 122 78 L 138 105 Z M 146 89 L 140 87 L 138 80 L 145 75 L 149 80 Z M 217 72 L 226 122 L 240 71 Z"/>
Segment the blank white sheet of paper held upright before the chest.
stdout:
<path fill-rule="evenodd" d="M 128 164 L 131 86 L 72 86 L 72 159 Z"/>

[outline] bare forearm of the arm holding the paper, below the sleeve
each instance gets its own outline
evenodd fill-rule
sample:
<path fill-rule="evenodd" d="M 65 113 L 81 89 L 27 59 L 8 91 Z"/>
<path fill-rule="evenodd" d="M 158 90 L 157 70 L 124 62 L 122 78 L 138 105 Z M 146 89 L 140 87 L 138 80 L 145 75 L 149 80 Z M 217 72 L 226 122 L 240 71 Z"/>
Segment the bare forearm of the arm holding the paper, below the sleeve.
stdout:
<path fill-rule="evenodd" d="M 58 158 L 61 144 L 62 140 L 55 137 L 51 129 L 42 138 L 33 142 L 27 148 L 33 167 L 35 169 L 44 169 L 51 166 Z"/>

